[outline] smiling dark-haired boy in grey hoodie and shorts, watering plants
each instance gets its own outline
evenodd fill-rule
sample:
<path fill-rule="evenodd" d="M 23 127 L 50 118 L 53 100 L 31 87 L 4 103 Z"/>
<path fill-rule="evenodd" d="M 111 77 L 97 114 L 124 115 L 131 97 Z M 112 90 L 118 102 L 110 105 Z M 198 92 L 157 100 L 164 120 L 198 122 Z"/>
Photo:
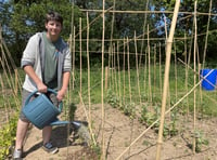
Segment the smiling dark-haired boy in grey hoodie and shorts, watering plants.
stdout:
<path fill-rule="evenodd" d="M 22 91 L 23 107 L 28 95 L 36 90 L 44 93 L 55 106 L 64 98 L 67 91 L 72 59 L 69 48 L 60 36 L 63 18 L 56 12 L 49 12 L 44 26 L 47 31 L 37 32 L 30 37 L 21 61 L 26 74 Z M 48 89 L 55 90 L 58 95 L 47 92 Z M 13 159 L 22 158 L 23 143 L 29 123 L 21 111 Z M 42 129 L 42 148 L 50 154 L 55 154 L 59 149 L 50 141 L 51 132 L 50 125 Z"/>

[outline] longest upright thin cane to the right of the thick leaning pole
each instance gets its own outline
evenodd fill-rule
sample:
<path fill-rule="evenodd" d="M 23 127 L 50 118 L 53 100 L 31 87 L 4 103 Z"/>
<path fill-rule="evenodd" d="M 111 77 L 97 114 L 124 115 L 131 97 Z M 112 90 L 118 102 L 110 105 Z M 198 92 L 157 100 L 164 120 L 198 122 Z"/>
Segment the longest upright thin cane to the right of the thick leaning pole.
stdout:
<path fill-rule="evenodd" d="M 196 23 L 196 4 L 197 1 L 194 2 L 194 54 L 193 54 L 193 71 L 196 71 L 196 49 L 197 49 L 197 39 L 196 39 L 196 30 L 197 30 L 197 23 Z M 196 83 L 196 75 L 194 74 L 194 85 Z M 195 134 L 196 132 L 196 90 L 193 92 L 193 97 L 194 97 L 194 105 L 193 105 L 193 133 Z M 195 148 L 196 148 L 196 137 L 195 135 L 193 136 L 193 154 L 195 154 Z"/>

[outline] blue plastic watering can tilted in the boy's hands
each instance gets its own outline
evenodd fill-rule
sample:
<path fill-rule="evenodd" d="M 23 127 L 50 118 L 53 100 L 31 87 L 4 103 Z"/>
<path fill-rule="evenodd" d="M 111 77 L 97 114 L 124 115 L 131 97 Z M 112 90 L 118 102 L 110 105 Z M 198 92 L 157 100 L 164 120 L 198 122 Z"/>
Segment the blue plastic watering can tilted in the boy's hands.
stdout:
<path fill-rule="evenodd" d="M 58 94 L 54 90 L 48 89 L 48 92 Z M 56 117 L 61 114 L 63 108 L 63 103 L 61 102 L 59 106 L 54 106 L 53 103 L 41 93 L 33 101 L 31 97 L 38 93 L 38 90 L 34 91 L 28 95 L 23 107 L 23 114 L 26 118 L 38 129 L 43 129 L 47 125 L 61 125 L 72 123 L 79 128 L 81 125 L 78 121 L 60 121 Z"/>

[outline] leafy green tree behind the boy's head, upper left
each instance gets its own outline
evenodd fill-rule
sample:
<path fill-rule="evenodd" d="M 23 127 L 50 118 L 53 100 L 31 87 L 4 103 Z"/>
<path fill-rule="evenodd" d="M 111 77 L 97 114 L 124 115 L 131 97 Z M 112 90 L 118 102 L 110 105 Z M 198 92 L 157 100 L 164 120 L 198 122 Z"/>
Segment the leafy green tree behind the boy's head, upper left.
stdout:
<path fill-rule="evenodd" d="M 3 37 L 17 65 L 29 37 L 44 30 L 44 15 L 49 10 L 62 14 L 64 18 L 62 36 L 65 40 L 69 38 L 72 3 L 68 0 L 11 0 L 0 4 L 1 11 L 4 11 L 0 13 L 3 19 L 1 23 L 4 24 Z M 78 8 L 73 9 L 76 14 L 75 25 L 78 25 L 78 17 L 82 15 Z"/>

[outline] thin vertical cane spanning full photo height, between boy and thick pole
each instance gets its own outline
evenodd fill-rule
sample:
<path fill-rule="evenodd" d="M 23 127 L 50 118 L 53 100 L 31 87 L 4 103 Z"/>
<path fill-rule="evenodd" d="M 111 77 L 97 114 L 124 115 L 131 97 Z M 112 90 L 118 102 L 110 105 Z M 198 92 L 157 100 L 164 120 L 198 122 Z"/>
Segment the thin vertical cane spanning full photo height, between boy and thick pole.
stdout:
<path fill-rule="evenodd" d="M 104 78 L 104 39 L 105 39 L 105 0 L 103 0 L 103 11 L 102 11 L 102 78 L 101 78 L 101 96 L 102 96 L 102 157 L 101 159 L 105 159 L 105 139 L 104 139 L 104 86 L 103 86 L 103 78 Z"/>

